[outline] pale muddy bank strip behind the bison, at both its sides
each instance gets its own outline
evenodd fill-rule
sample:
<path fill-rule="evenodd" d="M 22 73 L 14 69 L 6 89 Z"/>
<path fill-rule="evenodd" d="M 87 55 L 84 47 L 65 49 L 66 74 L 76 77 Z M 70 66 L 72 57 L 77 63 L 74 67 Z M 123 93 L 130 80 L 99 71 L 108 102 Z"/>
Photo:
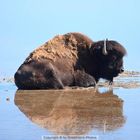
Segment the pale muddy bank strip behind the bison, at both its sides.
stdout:
<path fill-rule="evenodd" d="M 14 83 L 14 78 L 0 78 L 0 83 Z M 100 80 L 98 83 L 99 87 L 108 87 L 108 82 Z M 122 88 L 139 88 L 140 87 L 140 72 L 136 71 L 125 71 L 118 77 L 114 78 L 113 87 Z"/>

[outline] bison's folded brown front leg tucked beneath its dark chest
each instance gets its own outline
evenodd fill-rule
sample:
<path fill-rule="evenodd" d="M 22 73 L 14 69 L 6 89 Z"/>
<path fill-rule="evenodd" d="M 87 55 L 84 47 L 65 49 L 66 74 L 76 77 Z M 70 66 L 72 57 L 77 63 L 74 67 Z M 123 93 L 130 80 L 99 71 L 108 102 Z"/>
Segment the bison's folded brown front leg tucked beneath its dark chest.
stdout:
<path fill-rule="evenodd" d="M 91 87 L 96 86 L 96 82 L 94 77 L 84 71 L 78 70 L 74 73 L 74 86 Z"/>

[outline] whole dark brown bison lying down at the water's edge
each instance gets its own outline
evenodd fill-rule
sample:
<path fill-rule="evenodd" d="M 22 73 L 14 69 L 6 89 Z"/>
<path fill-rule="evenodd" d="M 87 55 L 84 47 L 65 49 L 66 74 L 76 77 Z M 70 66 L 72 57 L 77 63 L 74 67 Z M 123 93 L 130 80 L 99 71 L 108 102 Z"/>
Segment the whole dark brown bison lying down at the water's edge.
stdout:
<path fill-rule="evenodd" d="M 123 72 L 125 48 L 113 40 L 94 42 L 81 33 L 57 35 L 34 50 L 14 75 L 19 89 L 63 89 L 110 84 Z"/>

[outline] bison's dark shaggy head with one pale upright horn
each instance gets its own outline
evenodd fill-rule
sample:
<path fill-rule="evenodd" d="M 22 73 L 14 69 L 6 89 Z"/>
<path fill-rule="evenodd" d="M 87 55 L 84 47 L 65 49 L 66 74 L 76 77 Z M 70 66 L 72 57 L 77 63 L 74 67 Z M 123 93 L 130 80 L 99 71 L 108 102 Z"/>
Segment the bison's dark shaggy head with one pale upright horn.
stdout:
<path fill-rule="evenodd" d="M 116 41 L 98 41 L 91 46 L 92 54 L 98 65 L 98 78 L 113 81 L 113 77 L 123 72 L 123 56 L 125 48 Z"/>

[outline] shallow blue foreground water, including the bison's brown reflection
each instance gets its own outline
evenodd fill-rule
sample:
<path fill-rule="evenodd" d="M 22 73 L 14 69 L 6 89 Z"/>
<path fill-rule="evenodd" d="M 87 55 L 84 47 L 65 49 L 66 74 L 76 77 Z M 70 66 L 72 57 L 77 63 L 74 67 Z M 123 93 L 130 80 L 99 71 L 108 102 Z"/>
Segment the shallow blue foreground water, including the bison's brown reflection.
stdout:
<path fill-rule="evenodd" d="M 94 140 L 138 139 L 140 89 L 107 90 L 16 92 L 14 84 L 0 83 L 0 140 L 68 139 L 64 137 L 68 135 Z"/>

